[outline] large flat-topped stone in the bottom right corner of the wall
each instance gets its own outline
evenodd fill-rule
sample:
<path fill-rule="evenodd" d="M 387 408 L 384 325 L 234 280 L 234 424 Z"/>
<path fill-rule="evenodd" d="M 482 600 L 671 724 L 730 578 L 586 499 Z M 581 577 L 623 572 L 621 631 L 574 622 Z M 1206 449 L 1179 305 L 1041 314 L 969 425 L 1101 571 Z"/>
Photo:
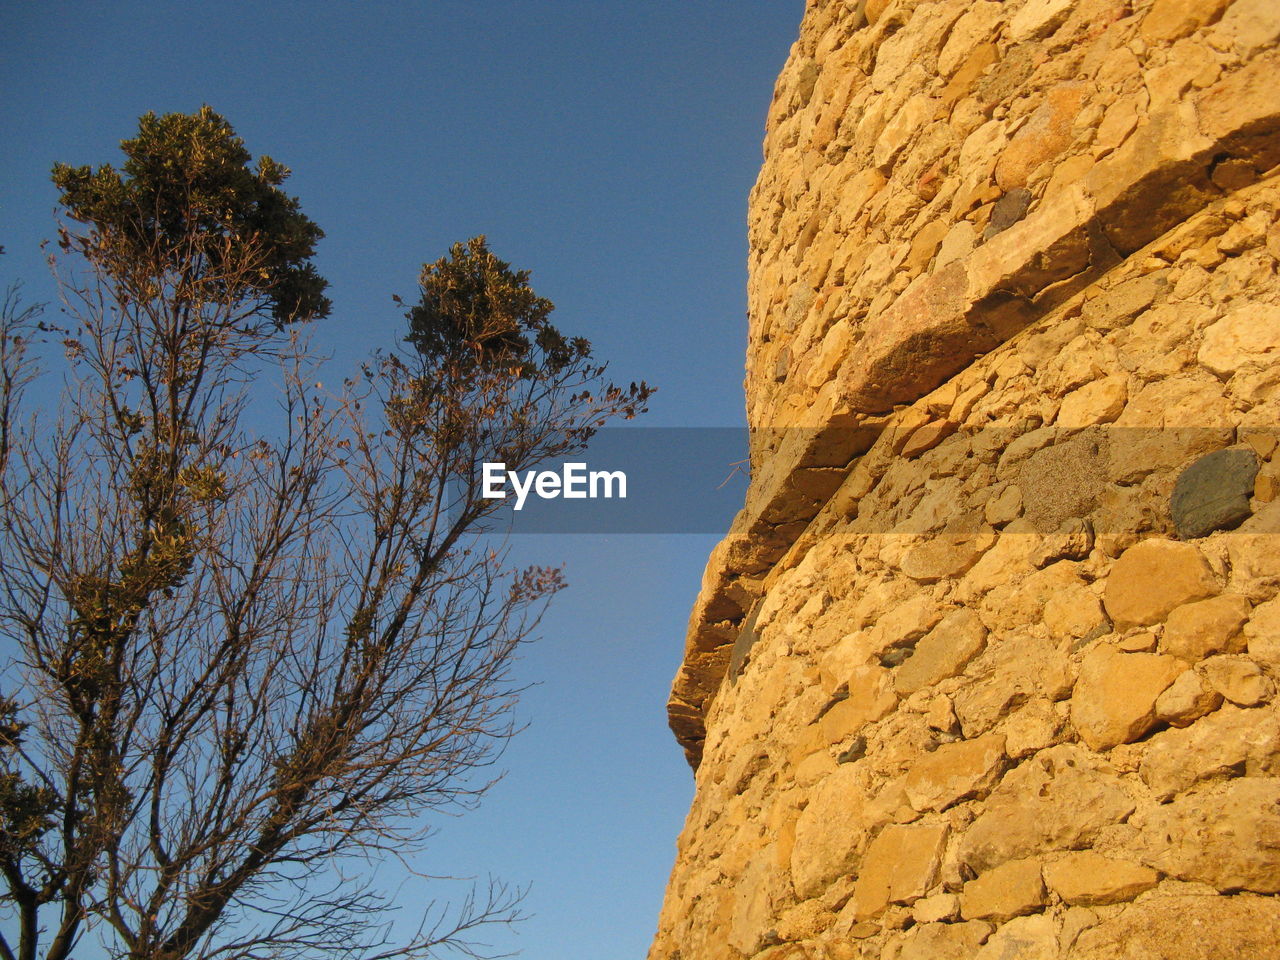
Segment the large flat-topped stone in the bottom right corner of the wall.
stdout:
<path fill-rule="evenodd" d="M 1071 960 L 1262 960 L 1280 943 L 1280 900 L 1153 896 L 1084 931 Z"/>

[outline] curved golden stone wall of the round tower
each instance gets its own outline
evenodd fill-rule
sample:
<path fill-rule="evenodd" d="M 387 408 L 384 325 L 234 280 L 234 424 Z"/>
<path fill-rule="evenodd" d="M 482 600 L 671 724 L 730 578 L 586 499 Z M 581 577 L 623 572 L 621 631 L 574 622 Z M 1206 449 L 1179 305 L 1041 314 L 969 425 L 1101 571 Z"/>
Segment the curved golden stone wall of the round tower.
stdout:
<path fill-rule="evenodd" d="M 1280 956 L 1277 41 L 809 3 L 653 960 Z"/>

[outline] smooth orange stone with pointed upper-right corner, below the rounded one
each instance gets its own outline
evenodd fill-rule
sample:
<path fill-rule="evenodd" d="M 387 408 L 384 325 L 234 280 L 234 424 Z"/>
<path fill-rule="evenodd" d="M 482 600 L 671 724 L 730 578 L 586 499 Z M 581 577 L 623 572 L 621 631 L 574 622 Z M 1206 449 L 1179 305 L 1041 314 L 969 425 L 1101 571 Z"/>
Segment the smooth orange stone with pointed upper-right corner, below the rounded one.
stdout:
<path fill-rule="evenodd" d="M 1187 666 L 1174 657 L 1094 646 L 1071 694 L 1071 723 L 1094 750 L 1129 744 L 1156 723 L 1156 700 Z"/>

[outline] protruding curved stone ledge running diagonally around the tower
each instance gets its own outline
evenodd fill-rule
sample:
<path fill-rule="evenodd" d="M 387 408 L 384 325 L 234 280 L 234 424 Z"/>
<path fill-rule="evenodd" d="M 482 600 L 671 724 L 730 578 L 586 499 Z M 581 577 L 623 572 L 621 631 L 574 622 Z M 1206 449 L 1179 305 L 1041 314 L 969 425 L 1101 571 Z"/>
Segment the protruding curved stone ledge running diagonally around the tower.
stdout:
<path fill-rule="evenodd" d="M 840 486 L 842 468 L 870 448 L 901 404 L 1230 192 L 1213 182 L 1219 165 L 1238 161 L 1235 169 L 1243 164 L 1256 182 L 1280 164 L 1280 100 L 1268 83 L 1277 72 L 1280 52 L 1271 51 L 1194 100 L 1153 114 L 1080 182 L 968 257 L 923 275 L 870 319 L 817 411 L 822 422 L 787 431 L 708 561 L 668 701 L 672 731 L 692 767 L 746 611 Z"/>

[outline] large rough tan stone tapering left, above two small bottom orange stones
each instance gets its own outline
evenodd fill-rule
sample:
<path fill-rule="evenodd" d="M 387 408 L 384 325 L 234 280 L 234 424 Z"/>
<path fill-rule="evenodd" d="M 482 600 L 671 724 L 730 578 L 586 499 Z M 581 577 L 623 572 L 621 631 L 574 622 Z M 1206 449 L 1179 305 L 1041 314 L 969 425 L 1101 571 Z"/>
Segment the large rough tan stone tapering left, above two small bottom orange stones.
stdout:
<path fill-rule="evenodd" d="M 1005 774 L 964 836 L 959 856 L 982 872 L 1006 860 L 1088 846 L 1133 810 L 1114 768 L 1062 744 Z"/>

